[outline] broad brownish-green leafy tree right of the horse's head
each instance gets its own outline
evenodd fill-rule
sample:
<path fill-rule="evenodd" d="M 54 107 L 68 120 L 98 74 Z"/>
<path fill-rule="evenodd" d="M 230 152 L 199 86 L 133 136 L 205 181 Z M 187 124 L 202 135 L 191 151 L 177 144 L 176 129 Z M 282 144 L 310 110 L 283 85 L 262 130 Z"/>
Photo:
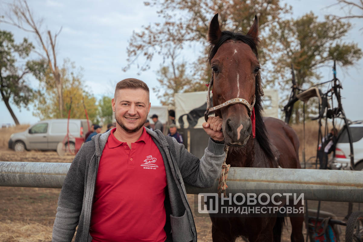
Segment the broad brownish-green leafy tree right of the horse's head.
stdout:
<path fill-rule="evenodd" d="M 349 66 L 362 57 L 362 50 L 356 43 L 341 40 L 351 28 L 349 23 L 332 16 L 326 16 L 325 21 L 317 18 L 310 12 L 296 20 L 280 21 L 276 28 L 270 29 L 267 41 L 277 52 L 271 60 L 274 71 L 269 85 L 280 80 L 282 90 L 290 88 L 291 63 L 295 68 L 297 86 L 306 89 L 321 78 L 319 67 L 332 64 L 333 60 L 341 66 Z M 299 110 L 295 108 L 296 123 L 299 116 Z"/>

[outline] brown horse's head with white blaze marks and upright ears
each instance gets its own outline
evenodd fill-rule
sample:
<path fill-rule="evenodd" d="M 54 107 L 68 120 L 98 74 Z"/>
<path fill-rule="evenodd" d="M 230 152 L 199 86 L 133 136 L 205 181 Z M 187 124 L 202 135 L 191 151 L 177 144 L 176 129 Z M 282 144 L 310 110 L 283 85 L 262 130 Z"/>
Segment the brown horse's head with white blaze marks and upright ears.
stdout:
<path fill-rule="evenodd" d="M 241 147 L 252 133 L 251 115 L 255 101 L 260 105 L 263 95 L 257 54 L 260 43 L 257 16 L 244 35 L 222 32 L 217 13 L 209 26 L 208 40 L 211 44 L 208 60 L 213 75 L 213 103 L 217 106 L 231 99 L 244 102 L 237 101 L 216 111 L 216 116 L 223 119 L 225 143 Z"/>

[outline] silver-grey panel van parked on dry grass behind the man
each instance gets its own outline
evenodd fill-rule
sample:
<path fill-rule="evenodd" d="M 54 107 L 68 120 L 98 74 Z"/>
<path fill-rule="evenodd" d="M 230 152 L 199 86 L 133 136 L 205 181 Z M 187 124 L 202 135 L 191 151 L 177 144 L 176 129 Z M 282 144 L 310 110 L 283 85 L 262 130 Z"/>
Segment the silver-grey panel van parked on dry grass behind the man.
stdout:
<path fill-rule="evenodd" d="M 30 149 L 57 150 L 67 134 L 68 119 L 48 119 L 30 126 L 24 132 L 10 136 L 8 147 L 15 151 Z M 91 123 L 90 123 L 91 126 Z M 74 138 L 84 138 L 88 132 L 86 119 L 69 119 L 69 146 L 75 145 Z M 65 140 L 65 144 L 68 140 Z"/>

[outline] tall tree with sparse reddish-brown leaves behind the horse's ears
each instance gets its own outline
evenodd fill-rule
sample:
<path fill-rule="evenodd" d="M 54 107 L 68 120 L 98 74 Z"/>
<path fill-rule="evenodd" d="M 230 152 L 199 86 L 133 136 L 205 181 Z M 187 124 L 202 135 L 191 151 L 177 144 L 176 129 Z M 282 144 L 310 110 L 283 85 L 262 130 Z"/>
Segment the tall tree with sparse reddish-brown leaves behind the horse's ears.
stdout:
<path fill-rule="evenodd" d="M 281 19 L 281 14 L 291 11 L 287 4 L 280 3 L 280 0 L 254 0 L 245 1 L 243 4 L 235 0 L 146 1 L 145 5 L 158 9 L 157 13 L 163 22 L 142 26 L 141 31 L 133 32 L 127 47 L 128 65 L 123 70 L 128 70 L 139 57 L 145 59 L 143 65 L 138 65 L 139 70 L 144 71 L 150 68 L 155 54 L 171 58 L 171 50 L 181 50 L 196 43 L 207 46 L 209 22 L 216 12 L 219 13 L 222 29 L 244 31 L 252 25 L 254 15 L 258 14 L 260 31 L 264 33 L 266 27 L 272 27 Z M 209 81 L 210 71 L 205 71 L 208 69 L 206 60 L 207 52 L 201 53 L 195 64 L 203 63 L 203 67 L 197 68 L 201 71 L 195 73 L 199 78 L 194 79 Z"/>

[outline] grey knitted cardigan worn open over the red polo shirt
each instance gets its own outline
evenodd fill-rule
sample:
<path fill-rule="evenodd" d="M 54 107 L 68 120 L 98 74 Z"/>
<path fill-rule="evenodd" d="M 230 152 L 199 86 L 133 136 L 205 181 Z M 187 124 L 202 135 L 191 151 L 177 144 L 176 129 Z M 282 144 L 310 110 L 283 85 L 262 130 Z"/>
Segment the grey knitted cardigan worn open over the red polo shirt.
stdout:
<path fill-rule="evenodd" d="M 200 188 L 211 187 L 221 172 L 224 144 L 209 139 L 204 156 L 199 160 L 174 138 L 165 137 L 159 130 L 146 131 L 159 148 L 165 165 L 168 192 L 164 201 L 167 214 L 164 229 L 167 240 L 197 241 L 184 182 Z M 72 241 L 77 225 L 75 241 L 91 241 L 89 227 L 98 163 L 109 135 L 110 131 L 93 136 L 74 158 L 59 195 L 52 241 Z"/>

